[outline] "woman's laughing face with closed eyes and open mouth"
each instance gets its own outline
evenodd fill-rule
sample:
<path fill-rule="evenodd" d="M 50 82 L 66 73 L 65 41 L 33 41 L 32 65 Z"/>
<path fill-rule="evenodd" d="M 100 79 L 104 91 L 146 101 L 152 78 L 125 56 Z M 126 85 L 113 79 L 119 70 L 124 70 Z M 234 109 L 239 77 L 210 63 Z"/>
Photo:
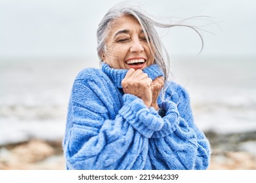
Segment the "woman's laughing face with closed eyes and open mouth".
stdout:
<path fill-rule="evenodd" d="M 133 16 L 121 16 L 114 22 L 102 59 L 114 69 L 143 70 L 154 63 L 142 27 Z"/>

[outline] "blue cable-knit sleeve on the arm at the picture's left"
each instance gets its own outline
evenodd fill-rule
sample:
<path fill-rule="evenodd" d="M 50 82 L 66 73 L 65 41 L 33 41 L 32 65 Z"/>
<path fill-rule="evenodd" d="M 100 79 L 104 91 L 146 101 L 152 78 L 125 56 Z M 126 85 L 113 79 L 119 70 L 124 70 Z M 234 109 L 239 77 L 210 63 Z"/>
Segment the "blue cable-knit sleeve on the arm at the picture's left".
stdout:
<path fill-rule="evenodd" d="M 143 169 L 148 138 L 163 122 L 141 99 L 117 90 L 96 69 L 75 80 L 63 143 L 67 169 Z"/>

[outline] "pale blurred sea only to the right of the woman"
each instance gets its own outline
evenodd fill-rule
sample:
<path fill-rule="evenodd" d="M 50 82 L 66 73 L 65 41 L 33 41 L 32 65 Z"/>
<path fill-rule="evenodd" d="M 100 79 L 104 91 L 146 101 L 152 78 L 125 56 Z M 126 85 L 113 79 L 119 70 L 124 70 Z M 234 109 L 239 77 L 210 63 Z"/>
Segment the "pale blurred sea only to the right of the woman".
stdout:
<path fill-rule="evenodd" d="M 194 118 L 203 131 L 256 131 L 256 59 L 181 59 L 177 82 L 190 93 Z"/>

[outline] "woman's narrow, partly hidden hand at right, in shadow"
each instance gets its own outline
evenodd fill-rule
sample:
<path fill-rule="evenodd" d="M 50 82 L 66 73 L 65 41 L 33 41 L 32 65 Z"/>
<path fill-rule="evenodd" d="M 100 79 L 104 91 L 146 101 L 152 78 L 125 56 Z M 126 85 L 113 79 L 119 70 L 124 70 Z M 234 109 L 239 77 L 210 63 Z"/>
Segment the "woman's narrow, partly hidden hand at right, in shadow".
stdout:
<path fill-rule="evenodd" d="M 158 107 L 158 96 L 160 94 L 161 88 L 163 88 L 163 82 L 164 82 L 164 79 L 162 76 L 159 76 L 152 82 L 152 86 L 151 86 L 152 103 L 150 106 L 154 107 L 156 110 L 159 108 Z"/>

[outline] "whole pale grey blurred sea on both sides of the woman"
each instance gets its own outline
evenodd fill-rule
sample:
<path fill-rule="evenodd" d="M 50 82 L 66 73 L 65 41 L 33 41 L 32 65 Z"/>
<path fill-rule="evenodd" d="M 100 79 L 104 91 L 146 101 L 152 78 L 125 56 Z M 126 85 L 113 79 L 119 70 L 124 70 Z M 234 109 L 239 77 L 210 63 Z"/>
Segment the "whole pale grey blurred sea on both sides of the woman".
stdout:
<path fill-rule="evenodd" d="M 90 58 L 0 59 L 0 145 L 62 140 L 70 90 Z M 255 58 L 173 58 L 172 80 L 190 93 L 203 131 L 256 131 Z"/>

